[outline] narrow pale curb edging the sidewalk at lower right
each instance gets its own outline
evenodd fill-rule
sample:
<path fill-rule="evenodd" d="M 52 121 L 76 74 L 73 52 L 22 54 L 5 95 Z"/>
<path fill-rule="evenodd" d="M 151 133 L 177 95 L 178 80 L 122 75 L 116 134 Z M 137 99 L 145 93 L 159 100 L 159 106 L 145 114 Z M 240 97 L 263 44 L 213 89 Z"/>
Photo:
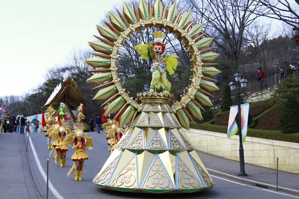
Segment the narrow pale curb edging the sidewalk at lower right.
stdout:
<path fill-rule="evenodd" d="M 244 183 L 252 184 L 252 185 L 255 185 L 255 186 L 262 186 L 263 188 L 266 188 L 266 189 L 277 190 L 276 185 L 262 183 L 262 182 L 258 182 L 258 181 L 254 181 L 254 180 L 248 180 L 248 179 L 245 179 L 245 178 L 242 178 L 242 177 L 238 177 L 238 176 L 234 176 L 234 175 L 231 175 L 231 174 L 219 172 L 219 171 L 216 171 L 216 170 L 213 170 L 213 169 L 208 169 L 208 168 L 206 168 L 206 169 L 208 170 L 209 173 L 213 173 L 213 174 L 216 174 L 216 175 L 219 175 L 219 176 L 222 176 L 222 177 L 227 177 L 227 178 L 230 178 L 230 179 L 233 179 L 233 180 L 237 180 L 239 182 L 244 182 Z M 299 195 L 299 190 L 289 189 L 289 188 L 282 187 L 282 186 L 278 186 L 278 191 Z"/>

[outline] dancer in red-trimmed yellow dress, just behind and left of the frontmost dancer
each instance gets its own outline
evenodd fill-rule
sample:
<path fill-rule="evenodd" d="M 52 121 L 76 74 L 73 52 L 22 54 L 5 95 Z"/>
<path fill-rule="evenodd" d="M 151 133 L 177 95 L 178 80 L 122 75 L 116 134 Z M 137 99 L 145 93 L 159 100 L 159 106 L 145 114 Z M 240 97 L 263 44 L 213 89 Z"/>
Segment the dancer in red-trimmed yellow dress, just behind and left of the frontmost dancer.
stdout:
<path fill-rule="evenodd" d="M 61 126 L 58 132 L 59 137 L 57 140 L 57 146 L 55 150 L 56 152 L 58 152 L 60 167 L 64 166 L 66 163 L 65 155 L 66 155 L 66 151 L 68 151 L 68 146 L 66 146 L 66 143 L 63 143 L 63 141 L 67 136 L 68 131 L 70 131 L 68 128 Z"/>

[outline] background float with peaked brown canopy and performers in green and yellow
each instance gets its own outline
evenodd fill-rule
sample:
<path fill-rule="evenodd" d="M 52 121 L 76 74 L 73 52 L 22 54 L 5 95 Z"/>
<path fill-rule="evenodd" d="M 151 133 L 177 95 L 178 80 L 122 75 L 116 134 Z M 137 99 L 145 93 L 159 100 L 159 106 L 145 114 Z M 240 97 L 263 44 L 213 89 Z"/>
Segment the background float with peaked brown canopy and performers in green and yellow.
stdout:
<path fill-rule="evenodd" d="M 57 114 L 60 114 L 62 125 L 65 128 L 75 129 L 78 125 L 82 125 L 85 131 L 90 130 L 90 126 L 87 123 L 83 123 L 85 118 L 85 109 L 83 105 L 86 105 L 85 100 L 73 78 L 66 73 L 63 83 L 56 86 L 51 96 L 43 107 L 58 104 L 59 108 L 55 111 L 54 117 L 57 118 Z M 74 114 L 68 103 L 77 107 L 77 111 Z M 84 118 L 83 118 L 84 117 Z M 82 119 L 83 118 L 83 119 Z"/>

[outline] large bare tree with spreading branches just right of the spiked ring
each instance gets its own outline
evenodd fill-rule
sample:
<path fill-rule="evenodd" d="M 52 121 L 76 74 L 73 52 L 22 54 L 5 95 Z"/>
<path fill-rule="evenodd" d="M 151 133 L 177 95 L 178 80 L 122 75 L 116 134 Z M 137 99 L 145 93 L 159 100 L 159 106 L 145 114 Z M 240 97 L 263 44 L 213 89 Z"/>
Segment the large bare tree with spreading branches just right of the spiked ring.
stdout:
<path fill-rule="evenodd" d="M 236 62 L 244 44 L 245 30 L 256 19 L 256 15 L 249 10 L 260 9 L 260 5 L 254 3 L 254 0 L 186 0 L 186 4 L 206 23 L 208 35 L 215 38 L 216 46 L 222 51 L 222 59 Z"/>

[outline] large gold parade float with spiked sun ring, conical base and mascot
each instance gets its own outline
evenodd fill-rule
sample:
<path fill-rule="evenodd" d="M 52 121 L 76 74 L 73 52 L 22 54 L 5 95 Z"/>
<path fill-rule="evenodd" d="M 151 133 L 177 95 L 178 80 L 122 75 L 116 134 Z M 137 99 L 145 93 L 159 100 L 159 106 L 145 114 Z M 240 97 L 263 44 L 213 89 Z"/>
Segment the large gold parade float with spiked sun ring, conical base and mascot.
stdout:
<path fill-rule="evenodd" d="M 160 0 L 153 6 L 144 0 L 133 7 L 124 3 L 123 14 L 109 12 L 108 16 L 110 22 L 105 21 L 106 26 L 97 25 L 101 37 L 96 38 L 99 40 L 89 42 L 98 53 L 92 53 L 95 57 L 86 60 L 94 67 L 89 71 L 94 75 L 87 81 L 99 84 L 94 88 L 100 89 L 94 100 L 108 98 L 104 115 L 118 111 L 119 128 L 123 125 L 129 128 L 113 146 L 114 151 L 93 183 L 100 188 L 127 192 L 186 193 L 213 188 L 213 179 L 184 131 L 189 129 L 189 119 L 202 119 L 202 105 L 212 105 L 208 92 L 218 90 L 211 77 L 220 71 L 212 67 L 215 64 L 211 61 L 219 54 L 207 52 L 213 48 L 208 47 L 213 38 L 204 36 L 204 24 L 195 24 L 191 20 L 191 11 L 178 12 L 176 3 L 168 9 Z M 151 72 L 155 80 L 151 83 L 155 85 L 151 85 L 149 92 L 137 94 L 141 100 L 138 103 L 137 98 L 130 97 L 122 88 L 117 58 L 119 49 L 131 39 L 132 33 L 152 27 L 158 31 L 155 43 L 138 44 L 135 49 L 142 55 L 141 59 L 154 59 Z M 158 37 L 163 37 L 159 32 L 174 34 L 181 41 L 189 53 L 193 71 L 187 93 L 171 106 L 168 103 L 174 96 L 169 92 L 171 85 L 163 74 L 165 70 L 173 73 L 171 68 L 176 67 L 178 57 L 163 54 L 164 49 L 161 49 L 165 44 L 157 42 Z M 160 87 L 162 92 L 156 92 Z"/>

